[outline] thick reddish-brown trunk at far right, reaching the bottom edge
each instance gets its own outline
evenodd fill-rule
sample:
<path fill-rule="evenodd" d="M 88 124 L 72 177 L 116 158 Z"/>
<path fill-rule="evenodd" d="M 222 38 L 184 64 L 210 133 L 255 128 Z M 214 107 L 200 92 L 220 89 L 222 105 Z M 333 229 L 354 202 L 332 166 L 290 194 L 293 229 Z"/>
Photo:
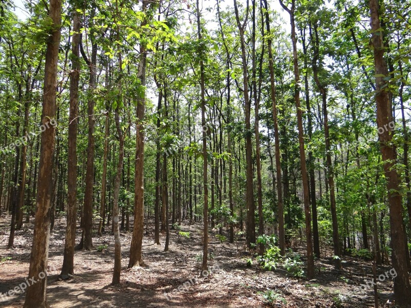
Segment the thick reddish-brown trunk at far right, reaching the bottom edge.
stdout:
<path fill-rule="evenodd" d="M 404 241 L 405 230 L 402 217 L 401 195 L 399 194 L 399 179 L 394 167 L 396 148 L 392 144 L 393 131 L 389 125 L 393 121 L 391 104 L 388 97 L 388 87 L 385 76 L 388 76 L 387 64 L 384 60 L 383 31 L 380 24 L 379 4 L 377 0 L 369 1 L 372 30 L 372 46 L 374 50 L 374 65 L 376 74 L 377 126 L 384 162 L 384 173 L 387 180 L 389 221 L 391 227 L 391 248 L 393 249 L 393 265 L 397 272 L 394 278 L 394 297 L 396 305 L 409 305 L 409 284 L 407 270 L 407 247 Z"/>

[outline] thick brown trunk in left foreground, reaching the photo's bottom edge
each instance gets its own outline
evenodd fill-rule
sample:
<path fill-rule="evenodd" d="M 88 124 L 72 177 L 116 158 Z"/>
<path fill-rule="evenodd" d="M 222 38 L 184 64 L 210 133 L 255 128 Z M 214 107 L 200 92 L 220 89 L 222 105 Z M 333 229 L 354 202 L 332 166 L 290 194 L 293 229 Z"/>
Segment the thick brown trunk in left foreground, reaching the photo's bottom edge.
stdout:
<path fill-rule="evenodd" d="M 50 0 L 49 16 L 53 22 L 47 42 L 44 75 L 42 124 L 49 124 L 55 117 L 56 83 L 60 46 L 61 1 Z M 41 134 L 39 183 L 37 189 L 37 210 L 34 220 L 34 235 L 31 248 L 28 277 L 37 282 L 28 286 L 24 308 L 46 308 L 47 258 L 50 237 L 50 191 L 53 172 L 55 126 L 50 125 Z"/>

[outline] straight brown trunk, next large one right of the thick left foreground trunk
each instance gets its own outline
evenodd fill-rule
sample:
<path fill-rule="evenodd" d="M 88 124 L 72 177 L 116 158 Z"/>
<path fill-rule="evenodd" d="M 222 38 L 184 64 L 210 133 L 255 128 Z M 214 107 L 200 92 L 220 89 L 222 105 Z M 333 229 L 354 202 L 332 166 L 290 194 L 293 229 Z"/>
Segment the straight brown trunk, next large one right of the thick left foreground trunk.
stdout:
<path fill-rule="evenodd" d="M 77 114 L 80 79 L 80 17 L 73 8 L 72 60 L 70 72 L 70 115 L 68 120 L 67 227 L 61 275 L 74 274 L 74 243 L 77 221 Z"/>

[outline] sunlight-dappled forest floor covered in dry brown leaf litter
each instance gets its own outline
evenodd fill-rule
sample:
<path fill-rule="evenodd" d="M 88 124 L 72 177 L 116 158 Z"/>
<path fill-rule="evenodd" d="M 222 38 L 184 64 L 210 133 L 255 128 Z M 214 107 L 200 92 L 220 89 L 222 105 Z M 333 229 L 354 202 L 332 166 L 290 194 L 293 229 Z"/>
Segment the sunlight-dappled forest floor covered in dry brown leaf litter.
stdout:
<path fill-rule="evenodd" d="M 331 256 L 315 261 L 315 280 L 287 276 L 279 267 L 275 271 L 263 271 L 256 264 L 247 267 L 245 240 L 234 244 L 215 237 L 218 230 L 211 230 L 209 266 L 218 266 L 207 278 L 199 277 L 202 255 L 202 224 L 181 225 L 181 231 L 190 237 L 177 241 L 177 230 L 170 230 L 170 251 L 163 252 L 165 235 L 161 245 L 154 243 L 153 219 L 145 219 L 143 260 L 148 267 L 127 269 L 132 233 L 121 231 L 122 272 L 121 284 L 111 286 L 114 266 L 114 236 L 111 233 L 93 238 L 94 249 L 76 251 L 75 276 L 59 280 L 63 262 L 65 225 L 64 218 L 55 221 L 50 235 L 49 273 L 47 299 L 52 308 L 62 307 L 371 307 L 373 288 L 366 288 L 361 295 L 347 296 L 360 284 L 372 278 L 370 261 L 344 257 L 343 271 L 333 268 Z M 25 281 L 27 277 L 33 224 L 25 224 L 15 234 L 15 248 L 6 249 L 10 216 L 0 218 L 0 293 L 7 293 Z M 106 227 L 107 230 L 107 227 Z M 78 236 L 81 231 L 78 229 Z M 77 243 L 79 242 L 77 239 Z M 301 243 L 300 243 L 301 244 Z M 107 246 L 106 246 L 107 245 Z M 298 246 L 298 243 L 296 244 Z M 99 248 L 99 249 L 98 249 Z M 304 247 L 293 247 L 302 254 Z M 331 252 L 329 253 L 331 254 Z M 377 268 L 377 276 L 389 271 L 390 266 Z M 320 271 L 320 273 L 318 273 Z M 190 282 L 191 281 L 191 282 Z M 187 286 L 182 292 L 173 292 L 178 286 Z M 190 286 L 189 286 L 190 285 Z M 181 288 L 180 288 L 181 290 Z M 273 290 L 279 297 L 273 303 L 263 298 L 264 292 Z M 380 307 L 392 306 L 393 280 L 378 282 Z M 261 293 L 260 293 L 261 292 Z M 169 294 L 170 297 L 164 296 Z M 0 307 L 22 307 L 24 294 L 16 294 L 2 301 Z"/>

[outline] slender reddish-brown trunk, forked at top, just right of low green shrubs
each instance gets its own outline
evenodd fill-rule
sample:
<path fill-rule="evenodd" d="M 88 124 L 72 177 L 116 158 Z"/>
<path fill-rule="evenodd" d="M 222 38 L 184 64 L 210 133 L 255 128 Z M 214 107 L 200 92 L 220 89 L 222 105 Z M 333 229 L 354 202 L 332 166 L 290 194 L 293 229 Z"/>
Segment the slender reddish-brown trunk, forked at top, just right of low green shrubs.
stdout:
<path fill-rule="evenodd" d="M 298 142 L 300 144 L 300 162 L 301 162 L 301 176 L 303 180 L 303 195 L 304 195 L 304 212 L 305 212 L 305 229 L 307 237 L 307 278 L 312 279 L 314 277 L 314 256 L 312 252 L 312 236 L 311 236 L 311 210 L 310 210 L 310 195 L 308 191 L 308 175 L 305 158 L 304 148 L 304 129 L 303 129 L 303 112 L 300 105 L 300 73 L 298 72 L 298 56 L 297 56 L 297 38 L 295 35 L 295 21 L 294 21 L 294 9 L 295 0 L 291 0 L 291 9 L 287 8 L 282 0 L 279 0 L 281 6 L 290 14 L 291 22 L 291 40 L 293 50 L 293 63 L 294 63 L 294 100 L 297 113 L 298 124 Z"/>

